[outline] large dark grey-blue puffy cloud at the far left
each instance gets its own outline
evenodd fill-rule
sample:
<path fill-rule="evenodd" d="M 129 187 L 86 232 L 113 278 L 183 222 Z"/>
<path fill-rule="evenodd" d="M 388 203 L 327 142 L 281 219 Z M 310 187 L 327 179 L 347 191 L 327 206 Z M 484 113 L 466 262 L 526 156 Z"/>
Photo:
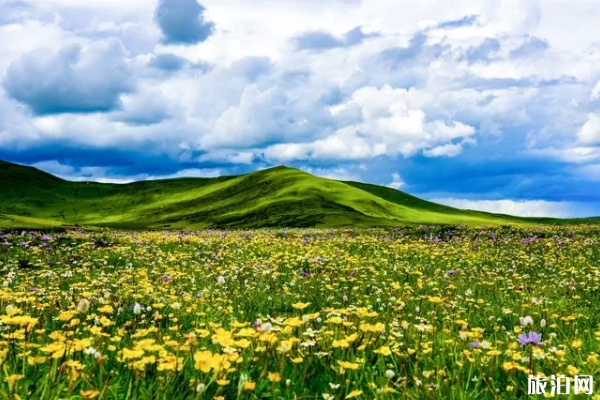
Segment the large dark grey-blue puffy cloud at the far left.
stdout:
<path fill-rule="evenodd" d="M 133 90 L 132 71 L 118 39 L 58 52 L 26 53 L 8 68 L 6 91 L 38 115 L 107 112 Z"/>

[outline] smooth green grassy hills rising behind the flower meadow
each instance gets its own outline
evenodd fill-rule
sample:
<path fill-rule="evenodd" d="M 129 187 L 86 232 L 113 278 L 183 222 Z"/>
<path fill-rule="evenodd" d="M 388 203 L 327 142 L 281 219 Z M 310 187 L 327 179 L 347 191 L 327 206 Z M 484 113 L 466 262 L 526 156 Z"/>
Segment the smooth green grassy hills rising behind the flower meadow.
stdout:
<path fill-rule="evenodd" d="M 275 167 L 240 176 L 71 182 L 0 161 L 0 228 L 128 229 L 567 222 L 459 210 L 406 193 Z M 573 222 L 573 221 L 570 221 Z"/>

